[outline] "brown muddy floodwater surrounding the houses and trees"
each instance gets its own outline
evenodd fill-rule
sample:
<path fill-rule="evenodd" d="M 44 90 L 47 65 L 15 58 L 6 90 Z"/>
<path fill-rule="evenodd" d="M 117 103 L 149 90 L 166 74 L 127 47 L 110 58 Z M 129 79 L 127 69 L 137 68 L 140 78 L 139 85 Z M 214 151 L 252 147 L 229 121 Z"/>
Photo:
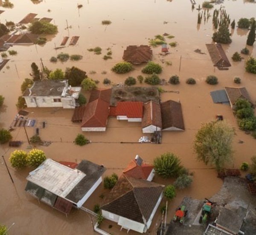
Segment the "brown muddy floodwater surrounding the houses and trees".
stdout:
<path fill-rule="evenodd" d="M 92 144 L 79 147 L 73 144 L 73 140 L 81 129 L 78 124 L 73 124 L 70 120 L 73 110 L 63 109 L 27 109 L 29 117 L 36 119 L 35 127 L 28 127 L 29 137 L 35 134 L 35 128 L 40 129 L 42 140 L 52 141 L 48 147 L 38 146 L 44 150 L 48 158 L 55 160 L 77 161 L 82 159 L 91 160 L 95 163 L 103 164 L 108 168 L 106 175 L 116 172 L 121 175 L 124 169 L 135 155 L 140 155 L 147 163 L 152 163 L 153 159 L 164 152 L 174 152 L 180 157 L 184 166 L 194 172 L 194 182 L 189 189 L 179 191 L 177 197 L 169 203 L 168 221 L 172 218 L 175 208 L 182 201 L 184 196 L 193 198 L 209 198 L 220 189 L 222 181 L 216 177 L 214 169 L 208 169 L 203 163 L 195 159 L 192 143 L 195 133 L 200 128 L 202 122 L 207 122 L 215 118 L 216 114 L 224 115 L 227 120 L 236 129 L 233 147 L 234 167 L 239 167 L 242 161 L 250 161 L 252 155 L 256 153 L 256 140 L 250 135 L 239 131 L 235 117 L 229 106 L 214 104 L 209 92 L 222 89 L 224 86 L 237 86 L 233 83 L 234 77 L 240 77 L 241 86 L 246 86 L 252 100 L 256 100 L 256 75 L 245 72 L 244 63 L 247 56 L 243 56 L 241 62 L 233 62 L 231 57 L 234 52 L 240 51 L 245 47 L 247 39 L 247 30 L 235 29 L 232 33 L 233 42 L 224 46 L 232 67 L 227 71 L 214 69 L 207 52 L 205 43 L 212 42 L 212 24 L 209 22 L 200 26 L 197 25 L 197 10 L 191 9 L 189 0 L 151 0 L 151 1 L 125 1 L 125 0 L 95 0 L 95 1 L 68 1 L 68 0 L 43 0 L 38 4 L 33 4 L 30 0 L 11 0 L 14 3 L 13 9 L 5 10 L 0 15 L 1 22 L 12 20 L 19 22 L 28 13 L 37 13 L 37 17 L 53 18 L 52 23 L 58 26 L 58 34 L 50 36 L 45 46 L 13 46 L 18 52 L 16 56 L 9 56 L 11 59 L 0 72 L 0 94 L 5 97 L 4 106 L 0 109 L 0 128 L 8 128 L 12 123 L 13 117 L 17 114 L 15 103 L 17 97 L 21 95 L 20 85 L 26 77 L 29 77 L 30 65 L 36 62 L 39 66 L 39 60 L 49 69 L 77 66 L 89 74 L 95 71 L 96 74 L 89 75 L 93 79 L 100 80 L 99 87 L 103 88 L 102 80 L 105 77 L 111 79 L 113 83 L 123 83 L 128 76 L 136 77 L 140 75 L 142 66 L 136 66 L 135 70 L 125 75 L 116 75 L 111 72 L 111 67 L 122 60 L 122 53 L 128 45 L 148 44 L 148 38 L 156 34 L 169 33 L 175 36 L 166 41 L 178 43 L 177 47 L 169 48 L 171 54 L 162 57 L 159 55 L 161 47 L 153 49 L 153 60 L 161 63 L 160 60 L 171 61 L 172 66 L 163 65 L 161 78 L 166 80 L 172 75 L 179 75 L 179 85 L 163 86 L 167 91 L 179 91 L 177 93 L 164 93 L 161 99 L 180 100 L 183 109 L 185 122 L 185 132 L 163 132 L 163 143 L 139 144 L 123 143 L 137 142 L 143 135 L 140 123 L 127 123 L 126 121 L 117 121 L 110 118 L 107 131 L 104 133 L 83 133 L 92 140 Z M 197 1 L 202 4 L 202 0 Z M 83 7 L 78 10 L 77 4 Z M 236 22 L 241 17 L 256 17 L 256 4 L 248 3 L 243 0 L 228 1 L 225 0 L 222 6 L 225 7 L 231 20 Z M 220 5 L 215 5 L 219 9 Z M 48 12 L 47 10 L 51 11 Z M 213 9 L 210 10 L 213 12 Z M 71 26 L 67 31 L 65 28 Z M 109 26 L 102 26 L 102 20 L 111 20 Z M 164 24 L 166 21 L 168 23 Z M 76 46 L 67 46 L 63 49 L 55 50 L 55 46 L 60 46 L 64 36 L 80 36 Z M 91 47 L 102 47 L 102 54 L 95 55 L 88 52 Z M 112 60 L 103 60 L 102 57 L 111 48 L 113 54 Z M 256 57 L 256 48 L 248 47 L 250 54 Z M 195 49 L 201 49 L 207 54 L 196 54 Z M 56 56 L 60 52 L 69 54 L 81 54 L 83 60 L 79 62 L 50 63 L 49 58 Z M 181 66 L 180 66 L 180 57 Z M 180 71 L 179 71 L 180 66 Z M 16 69 L 17 68 L 17 69 Z M 107 74 L 102 75 L 102 71 Z M 205 83 L 207 75 L 215 75 L 219 78 L 216 86 L 210 86 Z M 194 77 L 197 84 L 187 85 L 185 80 Z M 147 86 L 143 84 L 143 86 Z M 87 94 L 89 96 L 89 94 Z M 46 128 L 42 129 L 42 122 L 45 121 Z M 23 128 L 16 128 L 13 132 L 14 140 L 23 141 L 20 149 L 26 149 L 28 142 Z M 243 144 L 239 144 L 243 140 Z M 4 155 L 6 160 L 10 153 L 15 150 L 9 149 L 7 145 L 0 146 L 0 155 Z M 10 164 L 8 163 L 9 167 Z M 231 167 L 233 167 L 231 166 Z M 34 234 L 93 234 L 90 218 L 83 211 L 73 210 L 67 218 L 56 210 L 41 203 L 27 195 L 24 191 L 26 186 L 26 176 L 30 169 L 16 171 L 10 167 L 10 172 L 14 178 L 13 185 L 6 172 L 1 159 L 0 165 L 0 224 L 10 226 L 11 235 L 34 235 Z M 155 178 L 154 181 L 163 184 L 172 183 L 171 180 L 161 180 Z M 96 190 L 93 196 L 87 201 L 86 206 L 90 209 L 96 203 L 101 203 L 102 199 L 98 196 L 102 193 L 102 186 Z M 160 215 L 156 215 L 155 223 L 159 223 Z M 106 222 L 103 228 L 107 227 Z M 112 223 L 112 225 L 114 225 Z M 120 232 L 118 227 L 113 227 L 113 234 L 126 234 L 126 231 Z M 151 234 L 156 231 L 154 221 L 151 225 Z M 111 231 L 108 231 L 111 232 Z M 136 234 L 132 231 L 129 234 Z"/>

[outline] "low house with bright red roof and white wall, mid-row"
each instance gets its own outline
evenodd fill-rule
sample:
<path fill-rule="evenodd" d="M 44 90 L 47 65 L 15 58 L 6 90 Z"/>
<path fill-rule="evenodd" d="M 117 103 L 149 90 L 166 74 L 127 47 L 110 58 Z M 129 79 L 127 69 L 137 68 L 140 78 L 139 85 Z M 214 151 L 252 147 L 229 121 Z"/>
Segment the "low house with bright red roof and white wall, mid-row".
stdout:
<path fill-rule="evenodd" d="M 116 116 L 117 120 L 128 120 L 128 122 L 141 122 L 143 117 L 143 102 L 117 102 L 116 106 L 111 107 L 110 116 Z"/>

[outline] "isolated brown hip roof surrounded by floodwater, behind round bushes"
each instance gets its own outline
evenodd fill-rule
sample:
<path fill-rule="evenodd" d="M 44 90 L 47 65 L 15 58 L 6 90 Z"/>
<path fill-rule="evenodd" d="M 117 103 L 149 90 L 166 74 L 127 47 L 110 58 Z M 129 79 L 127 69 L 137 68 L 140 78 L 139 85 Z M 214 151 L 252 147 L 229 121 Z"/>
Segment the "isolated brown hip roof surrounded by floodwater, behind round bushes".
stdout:
<path fill-rule="evenodd" d="M 146 63 L 152 59 L 152 50 L 150 46 L 128 46 L 124 51 L 123 60 L 133 63 Z"/>

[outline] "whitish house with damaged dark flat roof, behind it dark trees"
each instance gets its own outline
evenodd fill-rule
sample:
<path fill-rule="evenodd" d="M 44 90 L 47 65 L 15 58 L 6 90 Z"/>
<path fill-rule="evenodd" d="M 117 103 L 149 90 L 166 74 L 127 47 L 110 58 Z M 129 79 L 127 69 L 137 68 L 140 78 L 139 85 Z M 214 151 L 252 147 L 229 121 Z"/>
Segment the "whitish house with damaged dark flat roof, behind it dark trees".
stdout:
<path fill-rule="evenodd" d="M 63 107 L 74 109 L 81 87 L 68 86 L 67 80 L 35 81 L 23 93 L 28 108 Z"/>

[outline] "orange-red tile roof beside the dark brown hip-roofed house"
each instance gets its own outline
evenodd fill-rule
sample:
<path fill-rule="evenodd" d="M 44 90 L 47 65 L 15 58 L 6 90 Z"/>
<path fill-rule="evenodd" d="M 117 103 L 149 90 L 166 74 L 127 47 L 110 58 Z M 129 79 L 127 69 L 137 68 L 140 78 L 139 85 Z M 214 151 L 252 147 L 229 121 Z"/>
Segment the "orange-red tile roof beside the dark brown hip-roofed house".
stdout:
<path fill-rule="evenodd" d="M 123 171 L 126 176 L 131 176 L 137 179 L 144 179 L 146 180 L 150 175 L 152 169 L 154 169 L 153 165 L 143 163 L 139 166 L 136 160 L 132 160 L 127 168 Z"/>

